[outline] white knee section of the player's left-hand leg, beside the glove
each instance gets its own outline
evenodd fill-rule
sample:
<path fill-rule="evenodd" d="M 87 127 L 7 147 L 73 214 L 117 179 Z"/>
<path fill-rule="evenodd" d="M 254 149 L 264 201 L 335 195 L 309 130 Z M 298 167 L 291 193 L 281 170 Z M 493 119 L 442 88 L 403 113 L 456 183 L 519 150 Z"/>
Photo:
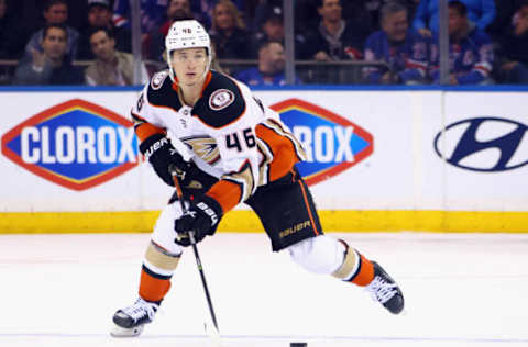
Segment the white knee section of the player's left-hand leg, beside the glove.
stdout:
<path fill-rule="evenodd" d="M 174 230 L 174 221 L 182 216 L 183 212 L 179 202 L 173 202 L 163 209 L 157 217 L 156 225 L 152 233 L 151 239 L 170 255 L 180 255 L 183 247 L 174 242 L 176 231 Z"/>

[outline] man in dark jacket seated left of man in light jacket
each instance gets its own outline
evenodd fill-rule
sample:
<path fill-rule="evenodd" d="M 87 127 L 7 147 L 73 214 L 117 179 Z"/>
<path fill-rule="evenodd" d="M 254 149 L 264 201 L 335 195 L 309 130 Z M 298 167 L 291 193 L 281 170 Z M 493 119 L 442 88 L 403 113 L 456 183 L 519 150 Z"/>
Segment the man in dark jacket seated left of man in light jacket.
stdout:
<path fill-rule="evenodd" d="M 68 32 L 63 24 L 50 24 L 43 31 L 41 49 L 22 59 L 14 72 L 13 85 L 81 85 L 81 69 L 72 65 L 66 54 Z"/>

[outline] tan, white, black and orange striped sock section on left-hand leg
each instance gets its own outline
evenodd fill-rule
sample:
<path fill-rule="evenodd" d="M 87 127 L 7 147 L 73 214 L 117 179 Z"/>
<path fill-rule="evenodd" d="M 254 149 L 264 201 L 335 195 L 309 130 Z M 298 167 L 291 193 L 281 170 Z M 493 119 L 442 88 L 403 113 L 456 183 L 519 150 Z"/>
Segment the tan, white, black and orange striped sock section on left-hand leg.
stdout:
<path fill-rule="evenodd" d="M 172 255 L 151 242 L 141 270 L 140 296 L 150 302 L 161 303 L 170 289 L 170 278 L 180 255 Z"/>

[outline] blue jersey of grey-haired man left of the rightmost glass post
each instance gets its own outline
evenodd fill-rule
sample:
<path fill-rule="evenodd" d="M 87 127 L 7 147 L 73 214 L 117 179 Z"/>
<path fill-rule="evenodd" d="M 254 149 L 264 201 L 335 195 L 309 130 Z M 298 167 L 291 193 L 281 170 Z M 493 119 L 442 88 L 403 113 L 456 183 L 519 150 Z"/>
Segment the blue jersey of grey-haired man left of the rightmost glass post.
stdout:
<path fill-rule="evenodd" d="M 405 41 L 393 46 L 384 31 L 372 33 L 365 43 L 366 61 L 385 61 L 393 74 L 404 83 L 422 82 L 427 75 L 429 43 L 413 29 L 407 31 Z M 386 68 L 370 67 L 365 70 L 366 82 L 380 83 Z"/>

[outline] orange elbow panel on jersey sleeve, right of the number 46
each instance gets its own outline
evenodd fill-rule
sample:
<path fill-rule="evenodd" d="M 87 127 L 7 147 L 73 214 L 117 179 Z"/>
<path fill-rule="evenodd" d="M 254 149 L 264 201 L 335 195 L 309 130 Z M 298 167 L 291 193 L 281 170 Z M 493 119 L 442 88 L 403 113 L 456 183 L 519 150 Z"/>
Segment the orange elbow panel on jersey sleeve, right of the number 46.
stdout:
<path fill-rule="evenodd" d="M 256 136 L 265 142 L 273 153 L 273 161 L 270 164 L 270 181 L 288 174 L 299 161 L 292 141 L 262 124 L 255 127 L 255 132 Z"/>

